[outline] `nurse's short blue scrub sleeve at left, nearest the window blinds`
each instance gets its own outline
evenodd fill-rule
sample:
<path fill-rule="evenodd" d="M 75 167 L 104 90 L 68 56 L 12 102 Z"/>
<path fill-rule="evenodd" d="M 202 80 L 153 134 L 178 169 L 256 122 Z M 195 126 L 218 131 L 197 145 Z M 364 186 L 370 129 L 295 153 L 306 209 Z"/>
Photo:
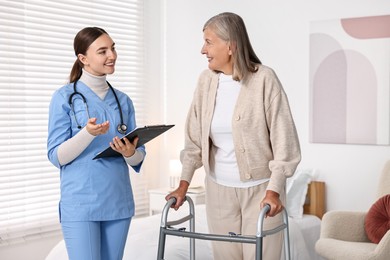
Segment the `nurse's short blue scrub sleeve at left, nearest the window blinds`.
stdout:
<path fill-rule="evenodd" d="M 60 144 L 71 137 L 70 106 L 66 98 L 57 90 L 49 106 L 49 123 L 47 138 L 47 157 L 49 161 L 60 168 L 57 150 Z"/>

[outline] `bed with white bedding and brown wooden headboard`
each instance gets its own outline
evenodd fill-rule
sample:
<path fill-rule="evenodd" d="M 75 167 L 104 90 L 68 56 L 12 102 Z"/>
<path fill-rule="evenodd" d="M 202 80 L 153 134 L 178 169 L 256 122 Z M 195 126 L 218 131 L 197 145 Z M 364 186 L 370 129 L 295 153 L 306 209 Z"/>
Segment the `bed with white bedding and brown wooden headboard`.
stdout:
<path fill-rule="evenodd" d="M 298 178 L 296 178 L 298 179 Z M 294 181 L 294 180 L 293 180 Z M 296 193 L 291 193 L 294 200 L 299 200 L 299 209 L 302 208 L 302 215 L 289 216 L 290 231 L 290 251 L 291 259 L 294 260 L 322 260 L 314 250 L 315 242 L 320 236 L 321 217 L 325 212 L 325 184 L 324 182 L 311 181 L 302 185 L 296 183 L 287 185 L 287 189 L 300 186 L 298 191 L 302 198 L 297 198 Z M 303 193 L 303 195 L 302 195 Z M 288 193 L 287 193 L 288 194 Z M 302 202 L 303 201 L 303 202 Z M 287 200 L 288 203 L 288 200 Z M 291 205 L 292 203 L 290 203 Z M 289 211 L 286 205 L 287 211 Z M 293 212 L 294 209 L 291 209 Z M 178 211 L 170 210 L 169 219 L 180 218 L 188 214 L 188 209 Z M 290 214 L 289 214 L 290 215 Z M 161 223 L 161 214 L 156 214 L 143 218 L 134 218 L 126 243 L 124 260 L 139 259 L 152 260 L 157 259 L 157 248 L 159 240 L 159 227 Z M 188 225 L 182 224 L 180 227 L 188 228 Z M 208 233 L 205 205 L 195 205 L 195 229 L 196 232 Z M 211 241 L 195 241 L 196 259 L 212 260 Z M 64 241 L 60 241 L 48 254 L 46 260 L 66 260 L 67 254 Z M 165 259 L 168 260 L 188 260 L 189 259 L 189 239 L 177 236 L 167 236 L 165 242 Z"/>

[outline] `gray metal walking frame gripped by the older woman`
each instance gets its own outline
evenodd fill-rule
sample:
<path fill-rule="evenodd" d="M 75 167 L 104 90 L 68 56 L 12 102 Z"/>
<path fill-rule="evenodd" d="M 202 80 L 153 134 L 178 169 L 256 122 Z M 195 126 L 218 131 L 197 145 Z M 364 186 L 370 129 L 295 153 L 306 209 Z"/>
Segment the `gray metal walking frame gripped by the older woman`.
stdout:
<path fill-rule="evenodd" d="M 195 239 L 202 240 L 214 240 L 214 241 L 226 241 L 236 243 L 250 243 L 256 244 L 256 260 L 262 260 L 263 252 L 263 238 L 275 234 L 284 230 L 284 253 L 285 259 L 290 260 L 290 240 L 288 231 L 288 215 L 287 211 L 283 209 L 283 223 L 273 229 L 263 230 L 263 222 L 267 212 L 270 210 L 270 206 L 266 205 L 262 208 L 257 221 L 257 232 L 256 236 L 243 236 L 236 234 L 229 235 L 218 235 L 218 234 L 205 234 L 195 232 L 195 209 L 194 203 L 189 196 L 185 197 L 185 201 L 189 204 L 189 214 L 183 218 L 168 221 L 168 212 L 173 204 L 176 203 L 176 198 L 171 198 L 167 201 L 161 214 L 161 225 L 160 225 L 160 237 L 158 243 L 157 260 L 164 260 L 164 250 L 166 236 L 179 236 L 190 238 L 190 260 L 195 260 Z M 175 228 L 179 224 L 189 221 L 189 231 L 185 228 Z"/>

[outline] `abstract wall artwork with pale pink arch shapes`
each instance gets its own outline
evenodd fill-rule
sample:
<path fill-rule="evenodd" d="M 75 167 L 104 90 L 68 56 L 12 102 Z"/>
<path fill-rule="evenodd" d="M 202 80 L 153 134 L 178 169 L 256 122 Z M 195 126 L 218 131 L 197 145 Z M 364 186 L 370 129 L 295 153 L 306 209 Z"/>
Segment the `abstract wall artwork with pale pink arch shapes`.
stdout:
<path fill-rule="evenodd" d="M 310 142 L 390 145 L 390 15 L 311 23 Z"/>

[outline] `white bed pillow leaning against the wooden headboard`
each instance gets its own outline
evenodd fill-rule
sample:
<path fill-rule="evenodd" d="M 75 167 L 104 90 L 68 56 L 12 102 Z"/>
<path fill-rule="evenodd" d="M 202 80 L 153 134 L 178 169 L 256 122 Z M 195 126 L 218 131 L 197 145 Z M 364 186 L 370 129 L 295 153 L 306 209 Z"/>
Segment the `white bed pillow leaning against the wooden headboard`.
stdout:
<path fill-rule="evenodd" d="M 303 217 L 303 205 L 306 200 L 307 187 L 313 177 L 313 170 L 299 169 L 287 179 L 286 183 L 286 210 L 292 218 Z"/>

